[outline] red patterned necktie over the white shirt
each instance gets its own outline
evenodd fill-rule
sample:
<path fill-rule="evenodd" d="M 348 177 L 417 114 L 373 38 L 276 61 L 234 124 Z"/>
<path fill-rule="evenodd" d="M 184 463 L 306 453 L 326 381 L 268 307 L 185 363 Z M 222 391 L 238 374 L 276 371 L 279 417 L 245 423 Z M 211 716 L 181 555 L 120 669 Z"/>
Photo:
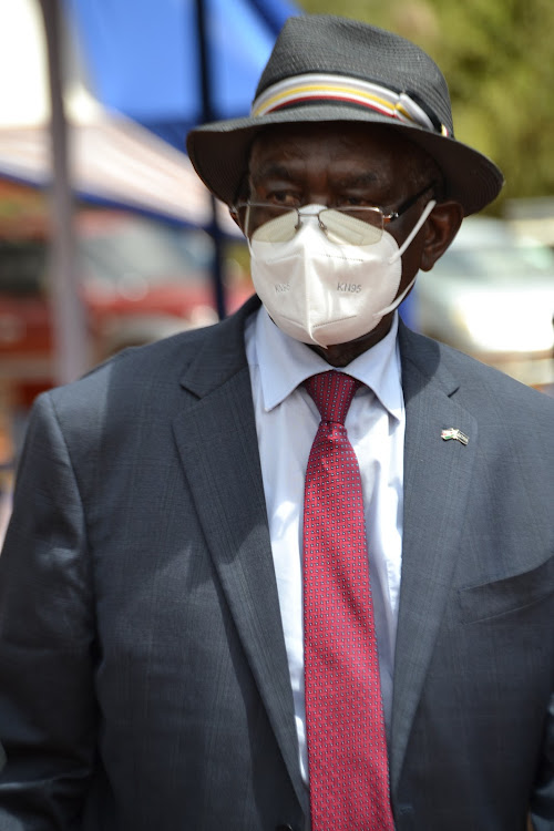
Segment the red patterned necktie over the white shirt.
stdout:
<path fill-rule="evenodd" d="M 360 382 L 306 388 L 321 422 L 306 472 L 304 648 L 312 831 L 392 831 L 358 461 L 345 418 Z"/>

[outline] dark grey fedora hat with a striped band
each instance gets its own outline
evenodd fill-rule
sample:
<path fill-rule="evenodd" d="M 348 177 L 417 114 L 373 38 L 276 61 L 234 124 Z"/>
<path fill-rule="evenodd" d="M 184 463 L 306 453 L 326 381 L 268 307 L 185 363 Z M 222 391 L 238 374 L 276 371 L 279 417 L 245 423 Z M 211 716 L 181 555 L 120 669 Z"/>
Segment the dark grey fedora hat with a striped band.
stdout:
<path fill-rule="evenodd" d="M 232 205 L 252 143 L 271 124 L 366 122 L 393 127 L 422 147 L 444 176 L 445 197 L 465 215 L 492 202 L 503 176 L 454 138 L 447 82 L 419 47 L 392 32 L 330 14 L 285 23 L 248 117 L 191 131 L 187 151 L 205 185 Z"/>

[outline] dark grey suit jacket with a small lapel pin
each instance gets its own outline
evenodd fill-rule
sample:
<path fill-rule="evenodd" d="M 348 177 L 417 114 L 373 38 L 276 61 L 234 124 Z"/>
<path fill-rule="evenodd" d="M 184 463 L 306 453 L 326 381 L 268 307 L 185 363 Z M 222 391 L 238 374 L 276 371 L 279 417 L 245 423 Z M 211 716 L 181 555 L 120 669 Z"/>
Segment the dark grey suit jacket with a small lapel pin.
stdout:
<path fill-rule="evenodd" d="M 0 557 L 1 831 L 304 829 L 247 311 L 35 407 Z M 396 825 L 553 829 L 554 402 L 400 345 Z"/>

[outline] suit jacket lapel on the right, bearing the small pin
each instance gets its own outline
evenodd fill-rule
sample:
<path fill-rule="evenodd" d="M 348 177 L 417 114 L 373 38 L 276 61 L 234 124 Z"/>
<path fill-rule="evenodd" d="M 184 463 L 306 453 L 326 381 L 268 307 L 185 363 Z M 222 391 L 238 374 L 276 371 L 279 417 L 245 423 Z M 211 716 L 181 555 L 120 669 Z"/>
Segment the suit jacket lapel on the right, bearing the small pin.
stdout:
<path fill-rule="evenodd" d="M 455 401 L 439 346 L 402 330 L 406 401 L 402 583 L 391 739 L 394 794 L 425 673 L 449 595 L 476 452 L 476 421 Z M 458 428 L 468 445 L 444 441 Z"/>

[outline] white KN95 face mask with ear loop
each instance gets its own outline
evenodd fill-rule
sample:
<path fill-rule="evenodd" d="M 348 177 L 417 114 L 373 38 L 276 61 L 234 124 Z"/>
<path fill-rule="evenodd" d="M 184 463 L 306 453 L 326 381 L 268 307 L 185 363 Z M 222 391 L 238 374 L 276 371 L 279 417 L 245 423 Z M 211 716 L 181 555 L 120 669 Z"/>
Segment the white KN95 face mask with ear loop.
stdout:
<path fill-rule="evenodd" d="M 252 278 L 269 317 L 291 338 L 321 347 L 370 332 L 416 281 L 397 297 L 402 254 L 434 205 L 428 203 L 401 248 L 386 230 L 372 245 L 336 245 L 320 229 L 317 216 L 302 217 L 289 242 L 252 239 Z M 306 205 L 300 215 L 324 207 Z"/>

